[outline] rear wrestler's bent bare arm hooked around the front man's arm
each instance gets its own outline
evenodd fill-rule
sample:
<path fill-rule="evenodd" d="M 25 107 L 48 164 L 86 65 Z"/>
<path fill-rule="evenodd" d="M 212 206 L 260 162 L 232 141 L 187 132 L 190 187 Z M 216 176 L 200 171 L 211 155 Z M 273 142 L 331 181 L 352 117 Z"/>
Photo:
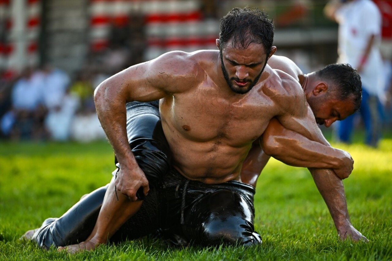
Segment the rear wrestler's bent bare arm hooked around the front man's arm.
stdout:
<path fill-rule="evenodd" d="M 241 180 L 256 187 L 257 179 L 271 156 L 294 167 L 334 169 L 335 174 L 344 179 L 353 169 L 353 160 L 347 154 L 344 150 L 323 145 L 288 130 L 273 118 L 243 162 Z"/>

